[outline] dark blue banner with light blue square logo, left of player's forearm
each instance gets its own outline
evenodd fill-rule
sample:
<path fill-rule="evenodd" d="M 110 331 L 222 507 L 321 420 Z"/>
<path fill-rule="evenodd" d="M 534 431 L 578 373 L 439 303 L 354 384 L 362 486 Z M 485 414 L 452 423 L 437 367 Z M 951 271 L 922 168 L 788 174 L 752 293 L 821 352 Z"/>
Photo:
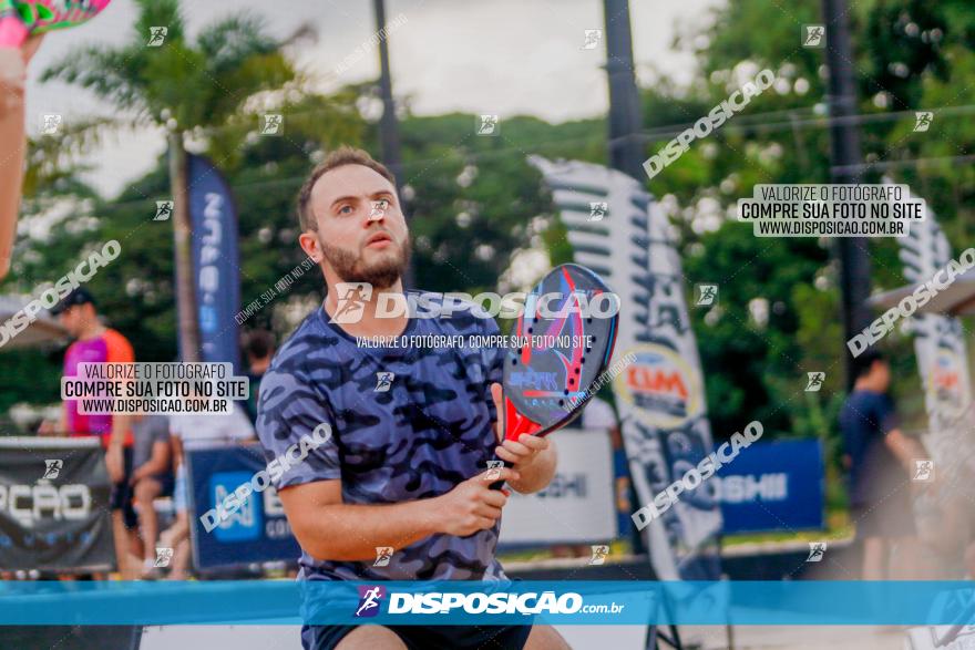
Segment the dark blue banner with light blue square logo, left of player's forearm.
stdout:
<path fill-rule="evenodd" d="M 201 570 L 264 561 L 297 561 L 301 554 L 285 517 L 277 491 L 266 475 L 238 507 L 219 515 L 217 505 L 266 468 L 259 445 L 186 452 L 187 485 L 192 494 L 193 558 Z M 236 498 L 234 498 L 236 501 Z M 204 520 L 201 520 L 203 517 Z M 211 530 L 207 530 L 207 527 Z"/>

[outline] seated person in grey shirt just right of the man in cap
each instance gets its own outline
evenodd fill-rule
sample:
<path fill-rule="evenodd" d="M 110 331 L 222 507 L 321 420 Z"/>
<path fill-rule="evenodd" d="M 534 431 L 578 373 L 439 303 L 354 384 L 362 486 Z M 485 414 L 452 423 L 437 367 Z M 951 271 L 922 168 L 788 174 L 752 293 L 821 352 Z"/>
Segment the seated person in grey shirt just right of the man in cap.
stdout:
<path fill-rule="evenodd" d="M 155 577 L 156 539 L 160 518 L 153 502 L 173 494 L 173 451 L 170 443 L 170 421 L 165 415 L 138 415 L 132 423 L 135 444 L 132 453 L 132 488 L 138 513 L 142 538 L 142 577 Z"/>

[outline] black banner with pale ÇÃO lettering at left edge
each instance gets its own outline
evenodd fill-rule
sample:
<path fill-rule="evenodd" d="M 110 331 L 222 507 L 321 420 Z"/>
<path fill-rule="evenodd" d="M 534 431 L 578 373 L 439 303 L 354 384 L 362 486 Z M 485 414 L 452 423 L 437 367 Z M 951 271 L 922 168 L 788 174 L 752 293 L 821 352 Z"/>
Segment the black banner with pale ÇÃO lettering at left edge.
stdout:
<path fill-rule="evenodd" d="M 0 569 L 112 569 L 110 491 L 98 439 L 0 439 Z"/>

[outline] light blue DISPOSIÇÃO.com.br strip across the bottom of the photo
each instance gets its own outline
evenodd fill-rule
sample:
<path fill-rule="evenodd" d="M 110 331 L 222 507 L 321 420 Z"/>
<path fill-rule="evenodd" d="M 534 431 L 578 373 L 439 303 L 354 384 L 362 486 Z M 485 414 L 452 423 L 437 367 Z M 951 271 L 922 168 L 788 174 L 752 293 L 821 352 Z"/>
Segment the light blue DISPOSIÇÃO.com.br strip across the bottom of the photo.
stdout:
<path fill-rule="evenodd" d="M 8 581 L 0 625 L 971 625 L 971 581 Z"/>

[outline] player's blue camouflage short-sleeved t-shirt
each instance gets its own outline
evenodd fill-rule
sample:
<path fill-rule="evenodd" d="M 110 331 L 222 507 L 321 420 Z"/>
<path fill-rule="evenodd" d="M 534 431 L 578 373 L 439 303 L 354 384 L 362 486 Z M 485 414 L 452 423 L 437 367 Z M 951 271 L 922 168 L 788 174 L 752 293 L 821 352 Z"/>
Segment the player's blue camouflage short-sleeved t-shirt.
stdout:
<path fill-rule="evenodd" d="M 257 432 L 268 461 L 321 423 L 332 435 L 275 486 L 340 478 L 347 504 L 393 504 L 439 496 L 484 472 L 497 444 L 490 385 L 501 381 L 503 351 L 466 345 L 469 336 L 499 332 L 492 318 L 472 311 L 478 308 L 465 305 L 450 317 L 411 318 L 399 342 L 460 336 L 465 343 L 432 348 L 360 347 L 324 308 L 310 313 L 260 383 Z M 319 561 L 302 549 L 301 577 L 501 579 L 497 528 L 463 538 L 432 535 L 394 551 L 384 567 Z"/>

